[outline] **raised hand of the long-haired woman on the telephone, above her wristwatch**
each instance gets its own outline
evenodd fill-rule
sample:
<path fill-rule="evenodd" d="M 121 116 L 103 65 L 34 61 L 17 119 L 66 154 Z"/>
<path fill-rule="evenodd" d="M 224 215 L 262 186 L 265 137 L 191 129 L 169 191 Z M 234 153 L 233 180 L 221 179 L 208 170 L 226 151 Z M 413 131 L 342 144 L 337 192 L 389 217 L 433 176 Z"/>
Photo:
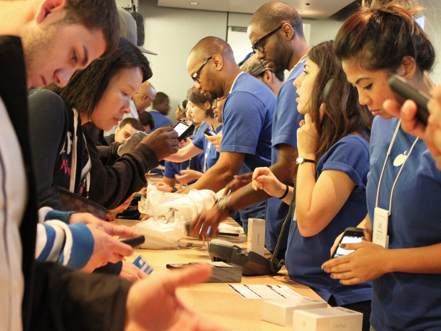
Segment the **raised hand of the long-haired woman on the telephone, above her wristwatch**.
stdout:
<path fill-rule="evenodd" d="M 325 104 L 322 103 L 320 111 L 324 109 Z M 312 122 L 311 115 L 305 114 L 305 124 L 297 129 L 297 150 L 298 155 L 303 158 L 315 160 L 316 153 L 319 149 L 319 132 L 317 132 L 315 124 Z"/>

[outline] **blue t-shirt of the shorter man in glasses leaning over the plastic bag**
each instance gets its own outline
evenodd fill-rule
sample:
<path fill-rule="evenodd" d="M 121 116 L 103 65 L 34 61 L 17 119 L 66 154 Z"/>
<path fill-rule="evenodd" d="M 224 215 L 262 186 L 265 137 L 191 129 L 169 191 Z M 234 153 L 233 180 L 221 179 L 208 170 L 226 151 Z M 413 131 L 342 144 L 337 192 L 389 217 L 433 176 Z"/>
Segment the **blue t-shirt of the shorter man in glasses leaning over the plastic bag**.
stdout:
<path fill-rule="evenodd" d="M 242 73 L 237 77 L 222 109 L 221 152 L 245 153 L 241 172 L 271 163 L 271 126 L 276 98 L 259 79 Z M 248 218 L 265 218 L 265 202 L 241 209 L 242 226 Z"/>

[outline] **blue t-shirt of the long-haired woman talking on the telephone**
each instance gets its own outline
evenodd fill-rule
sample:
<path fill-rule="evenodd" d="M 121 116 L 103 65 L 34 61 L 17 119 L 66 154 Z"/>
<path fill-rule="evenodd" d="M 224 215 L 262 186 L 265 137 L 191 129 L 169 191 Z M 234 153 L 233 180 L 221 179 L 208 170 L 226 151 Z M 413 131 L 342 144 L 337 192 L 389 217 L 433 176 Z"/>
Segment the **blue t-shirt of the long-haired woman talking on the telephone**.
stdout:
<path fill-rule="evenodd" d="M 339 306 L 371 299 L 370 282 L 353 286 L 340 284 L 321 270 L 329 259 L 335 238 L 348 227 L 356 227 L 365 218 L 366 183 L 369 171 L 369 143 L 358 134 L 340 139 L 319 159 L 317 175 L 325 170 L 343 171 L 355 188 L 332 221 L 319 233 L 303 237 L 293 221 L 288 237 L 285 265 L 292 280 L 311 287 L 325 301 L 331 295 Z"/>

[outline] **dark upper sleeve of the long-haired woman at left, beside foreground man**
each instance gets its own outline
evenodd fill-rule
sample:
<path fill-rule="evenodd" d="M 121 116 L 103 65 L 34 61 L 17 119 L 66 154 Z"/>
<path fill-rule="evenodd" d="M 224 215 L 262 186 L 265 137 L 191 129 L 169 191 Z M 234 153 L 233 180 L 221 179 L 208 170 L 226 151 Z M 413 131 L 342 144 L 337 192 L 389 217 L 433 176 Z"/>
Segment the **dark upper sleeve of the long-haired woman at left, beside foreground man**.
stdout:
<path fill-rule="evenodd" d="M 58 155 L 66 142 L 67 109 L 61 98 L 49 90 L 36 90 L 28 100 L 29 139 L 37 183 L 38 207 L 60 209 L 53 188 Z"/>

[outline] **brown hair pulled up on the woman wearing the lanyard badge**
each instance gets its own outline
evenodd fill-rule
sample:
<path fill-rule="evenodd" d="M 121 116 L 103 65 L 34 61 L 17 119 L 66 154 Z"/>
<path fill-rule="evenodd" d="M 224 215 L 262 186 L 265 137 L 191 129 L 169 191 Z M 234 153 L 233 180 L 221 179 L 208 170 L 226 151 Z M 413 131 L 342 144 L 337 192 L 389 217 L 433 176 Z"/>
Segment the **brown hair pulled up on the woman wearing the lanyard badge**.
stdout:
<path fill-rule="evenodd" d="M 403 57 L 412 56 L 421 70 L 430 70 L 435 50 L 415 22 L 421 10 L 412 0 L 363 1 L 342 25 L 335 39 L 339 59 L 355 58 L 368 71 L 395 72 Z"/>

